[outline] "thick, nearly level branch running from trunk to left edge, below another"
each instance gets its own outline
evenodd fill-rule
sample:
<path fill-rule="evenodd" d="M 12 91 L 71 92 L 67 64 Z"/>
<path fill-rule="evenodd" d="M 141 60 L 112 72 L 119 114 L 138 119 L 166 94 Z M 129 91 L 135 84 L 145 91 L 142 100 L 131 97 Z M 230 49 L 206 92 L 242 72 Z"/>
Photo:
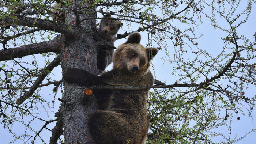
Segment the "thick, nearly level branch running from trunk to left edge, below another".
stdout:
<path fill-rule="evenodd" d="M 59 45 L 54 41 L 40 42 L 31 45 L 20 46 L 18 48 L 10 48 L 0 50 L 0 61 L 12 60 L 17 57 L 23 57 L 32 54 L 58 52 Z"/>

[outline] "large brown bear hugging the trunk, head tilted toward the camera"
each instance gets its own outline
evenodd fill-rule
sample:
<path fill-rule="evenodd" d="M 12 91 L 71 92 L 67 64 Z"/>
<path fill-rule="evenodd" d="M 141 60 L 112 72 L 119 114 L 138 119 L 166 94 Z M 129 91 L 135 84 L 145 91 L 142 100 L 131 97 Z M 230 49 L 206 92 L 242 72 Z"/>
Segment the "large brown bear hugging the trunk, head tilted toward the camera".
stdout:
<path fill-rule="evenodd" d="M 150 72 L 150 60 L 157 48 L 145 48 L 141 36 L 135 32 L 127 42 L 118 46 L 113 55 L 113 69 L 94 75 L 82 69 L 71 68 L 64 74 L 67 82 L 80 86 L 122 85 L 152 86 L 154 77 Z M 89 118 L 88 127 L 93 141 L 98 144 L 142 144 L 147 139 L 149 118 L 147 98 L 149 88 L 144 90 L 93 90 L 99 110 Z"/>

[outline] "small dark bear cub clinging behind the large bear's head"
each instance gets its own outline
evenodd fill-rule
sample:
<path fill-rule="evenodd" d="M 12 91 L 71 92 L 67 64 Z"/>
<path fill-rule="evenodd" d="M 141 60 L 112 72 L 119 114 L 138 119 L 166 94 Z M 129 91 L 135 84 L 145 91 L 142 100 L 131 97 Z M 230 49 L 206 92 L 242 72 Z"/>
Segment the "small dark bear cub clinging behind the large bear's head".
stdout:
<path fill-rule="evenodd" d="M 103 18 L 112 18 L 104 16 Z M 110 45 L 114 46 L 116 41 L 116 34 L 123 23 L 116 20 L 101 19 L 99 23 L 98 33 L 93 36 L 95 41 L 106 40 Z M 105 68 L 112 62 L 114 49 L 106 49 L 104 47 L 98 48 L 97 67 L 99 70 L 104 71 Z"/>

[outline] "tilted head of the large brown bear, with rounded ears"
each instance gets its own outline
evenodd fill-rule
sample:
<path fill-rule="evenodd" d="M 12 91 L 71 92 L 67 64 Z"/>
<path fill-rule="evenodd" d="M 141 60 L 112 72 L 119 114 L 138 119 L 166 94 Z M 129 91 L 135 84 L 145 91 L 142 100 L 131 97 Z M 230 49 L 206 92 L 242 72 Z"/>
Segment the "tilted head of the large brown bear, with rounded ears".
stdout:
<path fill-rule="evenodd" d="M 131 33 L 127 42 L 118 46 L 113 54 L 113 69 L 120 69 L 129 75 L 143 76 L 150 68 L 150 60 L 157 54 L 155 47 L 145 48 L 140 44 L 138 32 Z"/>

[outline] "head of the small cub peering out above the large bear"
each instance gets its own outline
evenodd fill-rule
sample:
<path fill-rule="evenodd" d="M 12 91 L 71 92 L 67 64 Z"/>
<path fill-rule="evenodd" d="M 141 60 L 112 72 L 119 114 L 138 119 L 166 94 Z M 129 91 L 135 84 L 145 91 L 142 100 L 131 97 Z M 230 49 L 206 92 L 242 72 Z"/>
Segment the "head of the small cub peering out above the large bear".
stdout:
<path fill-rule="evenodd" d="M 104 16 L 103 18 L 111 18 Z M 99 31 L 106 34 L 116 35 L 123 23 L 116 20 L 102 19 L 99 23 Z"/>

